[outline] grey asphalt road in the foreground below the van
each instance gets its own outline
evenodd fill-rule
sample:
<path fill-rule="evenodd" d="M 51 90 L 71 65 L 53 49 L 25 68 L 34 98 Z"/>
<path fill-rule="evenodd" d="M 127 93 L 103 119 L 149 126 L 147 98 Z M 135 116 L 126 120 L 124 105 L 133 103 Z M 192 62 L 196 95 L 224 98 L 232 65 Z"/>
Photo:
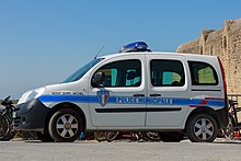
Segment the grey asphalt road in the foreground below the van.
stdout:
<path fill-rule="evenodd" d="M 241 141 L 216 140 L 213 143 L 193 143 L 188 140 L 179 143 L 1 141 L 0 160 L 240 161 Z"/>

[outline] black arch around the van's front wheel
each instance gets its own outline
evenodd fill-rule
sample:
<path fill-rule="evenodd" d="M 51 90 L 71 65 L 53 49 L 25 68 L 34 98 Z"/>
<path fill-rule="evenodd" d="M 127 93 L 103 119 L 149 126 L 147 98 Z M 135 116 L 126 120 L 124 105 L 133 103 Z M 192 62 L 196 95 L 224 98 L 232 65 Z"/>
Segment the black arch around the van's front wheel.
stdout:
<path fill-rule="evenodd" d="M 57 111 L 59 111 L 61 108 L 71 108 L 74 112 L 77 112 L 80 115 L 81 119 L 82 119 L 82 124 L 83 124 L 82 130 L 85 130 L 85 128 L 87 128 L 87 118 L 85 118 L 85 115 L 84 115 L 83 111 L 81 110 L 81 107 L 79 107 L 78 105 L 76 105 L 73 103 L 70 103 L 70 102 L 59 103 L 59 104 L 55 105 L 53 108 L 50 108 L 50 111 L 48 112 L 48 114 L 45 118 L 45 127 L 44 127 L 45 130 L 48 127 L 48 123 L 49 123 L 51 116 Z"/>

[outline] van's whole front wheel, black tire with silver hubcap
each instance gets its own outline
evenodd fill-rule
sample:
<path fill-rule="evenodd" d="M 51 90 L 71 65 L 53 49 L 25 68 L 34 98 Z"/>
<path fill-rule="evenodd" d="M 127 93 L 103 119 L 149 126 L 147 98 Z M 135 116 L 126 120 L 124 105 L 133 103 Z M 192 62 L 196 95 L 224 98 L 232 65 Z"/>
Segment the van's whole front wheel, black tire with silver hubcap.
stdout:
<path fill-rule="evenodd" d="M 48 124 L 50 137 L 58 142 L 72 142 L 83 131 L 83 124 L 80 115 L 70 108 L 57 111 Z"/>

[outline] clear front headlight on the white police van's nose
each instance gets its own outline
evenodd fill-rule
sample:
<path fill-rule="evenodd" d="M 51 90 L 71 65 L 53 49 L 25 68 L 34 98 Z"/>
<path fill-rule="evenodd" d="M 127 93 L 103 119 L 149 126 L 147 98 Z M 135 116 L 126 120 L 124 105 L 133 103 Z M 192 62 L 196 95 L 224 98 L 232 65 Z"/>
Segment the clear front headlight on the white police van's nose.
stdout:
<path fill-rule="evenodd" d="M 33 101 L 34 99 L 37 99 L 44 93 L 44 91 L 45 91 L 45 88 L 39 88 L 39 89 L 27 91 L 20 97 L 18 104 L 22 104 L 27 101 Z"/>

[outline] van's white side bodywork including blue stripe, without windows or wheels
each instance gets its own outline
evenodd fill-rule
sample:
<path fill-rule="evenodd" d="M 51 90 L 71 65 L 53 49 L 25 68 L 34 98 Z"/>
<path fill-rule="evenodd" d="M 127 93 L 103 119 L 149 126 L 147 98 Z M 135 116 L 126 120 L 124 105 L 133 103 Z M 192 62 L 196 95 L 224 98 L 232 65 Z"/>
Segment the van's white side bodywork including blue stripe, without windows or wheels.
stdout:
<path fill-rule="evenodd" d="M 47 85 L 38 99 L 48 108 L 61 103 L 74 104 L 85 116 L 87 129 L 103 130 L 181 130 L 185 128 L 188 114 L 195 110 L 195 105 L 197 106 L 197 104 L 192 104 L 193 100 L 202 102 L 205 99 L 225 99 L 222 76 L 217 57 L 174 53 L 127 53 L 102 58 L 103 60 L 92 67 L 80 80 Z M 91 79 L 99 68 L 110 62 L 127 59 L 137 59 L 141 62 L 140 85 L 130 88 L 93 88 L 91 85 Z M 184 68 L 184 85 L 153 87 L 150 80 L 150 62 L 153 59 L 180 61 Z M 217 71 L 218 84 L 192 85 L 188 61 L 204 61 L 211 65 Z M 107 93 L 101 93 L 106 91 Z M 100 96 L 105 96 L 104 94 L 108 97 L 102 104 Z M 153 94 L 159 95 L 151 96 Z M 218 110 L 223 106 L 214 104 L 211 107 Z M 117 108 L 116 113 L 115 108 Z M 124 112 L 120 108 L 124 108 Z"/>

